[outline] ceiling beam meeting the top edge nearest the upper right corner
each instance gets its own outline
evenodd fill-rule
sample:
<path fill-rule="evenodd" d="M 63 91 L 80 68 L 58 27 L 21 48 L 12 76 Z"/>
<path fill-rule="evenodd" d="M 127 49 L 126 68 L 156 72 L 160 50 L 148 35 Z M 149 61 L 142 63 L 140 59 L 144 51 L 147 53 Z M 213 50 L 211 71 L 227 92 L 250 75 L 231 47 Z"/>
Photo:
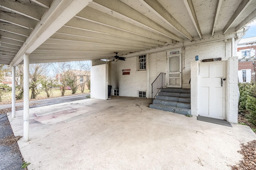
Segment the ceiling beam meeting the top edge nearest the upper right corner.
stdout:
<path fill-rule="evenodd" d="M 244 10 L 247 8 L 247 6 L 252 2 L 252 0 L 242 0 L 242 2 L 239 4 L 238 8 L 234 12 L 233 16 L 230 18 L 228 23 L 223 29 L 223 34 L 225 34 L 228 29 L 231 27 L 231 25 L 237 20 L 237 18 L 244 12 Z"/>

